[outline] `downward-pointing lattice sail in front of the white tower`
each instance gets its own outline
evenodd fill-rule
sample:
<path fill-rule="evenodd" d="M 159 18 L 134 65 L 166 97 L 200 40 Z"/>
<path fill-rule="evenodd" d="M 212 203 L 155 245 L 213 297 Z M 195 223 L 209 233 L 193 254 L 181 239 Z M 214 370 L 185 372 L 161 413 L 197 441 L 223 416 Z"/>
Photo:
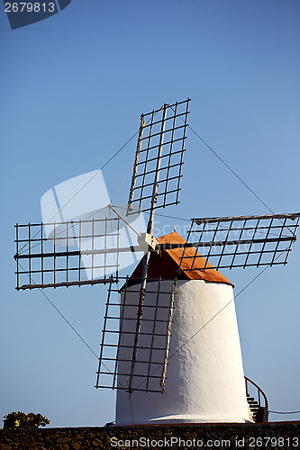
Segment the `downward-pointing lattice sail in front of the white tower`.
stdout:
<path fill-rule="evenodd" d="M 169 341 L 176 282 L 162 288 L 161 280 L 149 280 L 142 308 L 132 391 L 165 392 Z M 132 372 L 141 284 L 123 286 L 122 300 L 111 284 L 106 302 L 96 388 L 128 390 Z"/>

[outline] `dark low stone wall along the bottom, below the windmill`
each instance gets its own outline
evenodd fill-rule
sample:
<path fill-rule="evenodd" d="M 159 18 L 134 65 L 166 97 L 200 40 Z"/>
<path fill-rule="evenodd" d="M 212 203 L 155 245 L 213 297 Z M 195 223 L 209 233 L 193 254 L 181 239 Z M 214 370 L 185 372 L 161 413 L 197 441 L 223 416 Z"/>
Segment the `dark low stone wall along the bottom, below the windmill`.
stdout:
<path fill-rule="evenodd" d="M 300 448 L 300 421 L 0 430 L 0 450 Z"/>

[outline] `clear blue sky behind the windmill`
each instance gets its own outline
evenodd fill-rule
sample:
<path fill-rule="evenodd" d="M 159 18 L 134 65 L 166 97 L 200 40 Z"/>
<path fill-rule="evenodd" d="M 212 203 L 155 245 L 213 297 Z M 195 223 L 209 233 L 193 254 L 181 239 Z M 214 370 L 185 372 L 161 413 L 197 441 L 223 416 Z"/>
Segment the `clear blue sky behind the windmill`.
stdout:
<path fill-rule="evenodd" d="M 11 31 L 0 5 L 0 417 L 41 412 L 53 427 L 114 419 L 114 392 L 94 388 L 95 356 L 41 293 L 14 291 L 14 223 L 40 221 L 43 193 L 103 166 L 141 112 L 191 97 L 189 124 L 269 208 L 300 210 L 299 19 L 298 0 L 72 0 Z M 105 167 L 112 196 L 135 145 Z M 116 200 L 127 201 L 129 185 Z M 268 213 L 191 132 L 182 188 L 166 213 Z M 299 263 L 296 242 L 287 266 L 268 269 L 237 300 L 245 374 L 271 410 L 300 410 Z M 238 293 L 257 274 L 224 275 Z M 105 287 L 47 294 L 98 353 Z"/>

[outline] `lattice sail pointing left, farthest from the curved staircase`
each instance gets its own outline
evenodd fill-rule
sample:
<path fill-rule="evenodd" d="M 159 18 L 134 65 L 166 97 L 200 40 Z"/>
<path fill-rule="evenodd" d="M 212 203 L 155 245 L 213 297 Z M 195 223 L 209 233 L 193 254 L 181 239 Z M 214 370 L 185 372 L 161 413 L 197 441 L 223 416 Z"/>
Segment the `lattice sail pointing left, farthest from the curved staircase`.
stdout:
<path fill-rule="evenodd" d="M 15 229 L 17 290 L 107 283 L 108 274 L 117 276 L 118 217 L 17 224 Z"/>

